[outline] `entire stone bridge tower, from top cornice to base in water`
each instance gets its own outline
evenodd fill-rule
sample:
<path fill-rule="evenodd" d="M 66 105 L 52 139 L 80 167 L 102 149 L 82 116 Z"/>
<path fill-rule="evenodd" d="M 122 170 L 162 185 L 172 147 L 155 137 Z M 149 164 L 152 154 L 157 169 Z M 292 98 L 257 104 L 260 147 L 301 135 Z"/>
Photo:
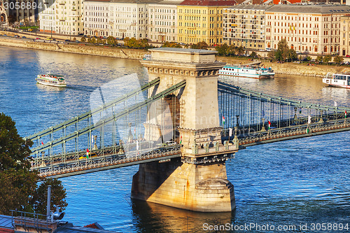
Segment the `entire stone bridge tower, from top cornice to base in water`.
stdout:
<path fill-rule="evenodd" d="M 181 159 L 141 164 L 132 180 L 132 198 L 202 212 L 235 209 L 234 187 L 225 161 L 238 143 L 221 141 L 216 51 L 156 48 L 141 63 L 148 80 L 160 78 L 149 95 L 186 80 L 186 87 L 151 106 L 145 137 L 181 143 Z"/>

